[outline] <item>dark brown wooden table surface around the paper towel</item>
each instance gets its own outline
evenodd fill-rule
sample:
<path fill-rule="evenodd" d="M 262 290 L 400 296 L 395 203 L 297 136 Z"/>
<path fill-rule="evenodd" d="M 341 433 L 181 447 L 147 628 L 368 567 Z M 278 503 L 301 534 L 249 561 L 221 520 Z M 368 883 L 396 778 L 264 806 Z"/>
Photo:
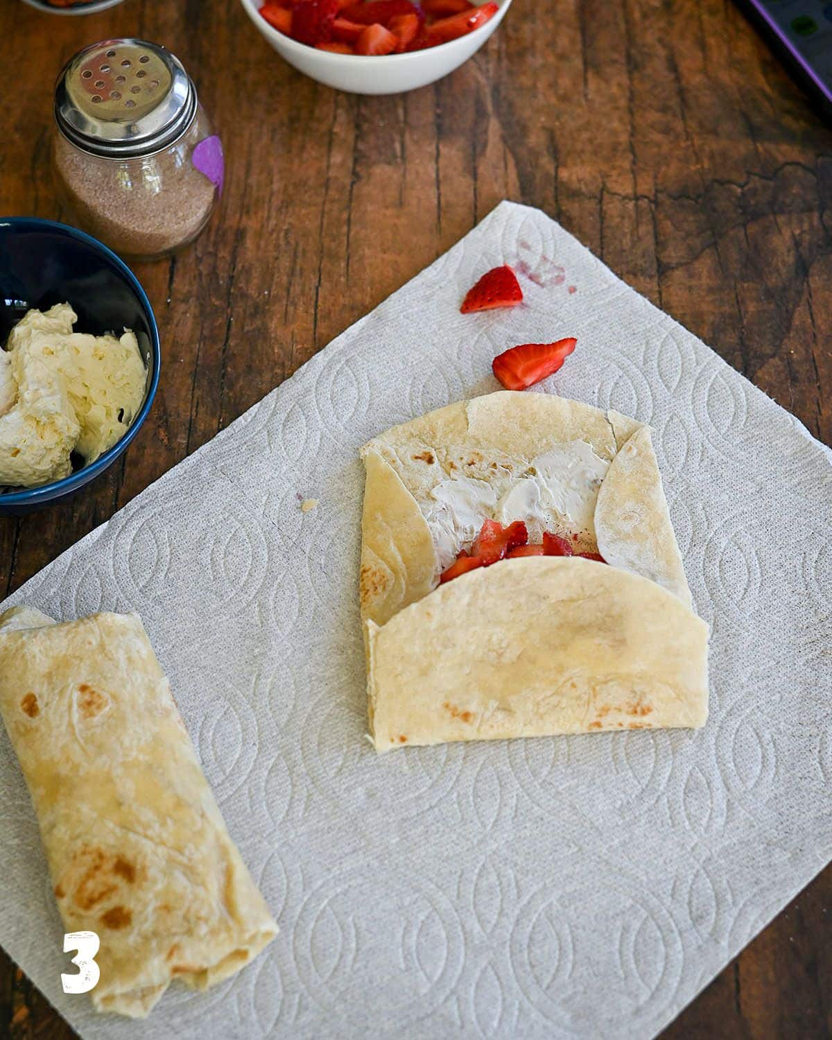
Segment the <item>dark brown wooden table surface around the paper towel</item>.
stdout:
<path fill-rule="evenodd" d="M 182 58 L 225 141 L 226 193 L 187 252 L 134 265 L 161 333 L 153 411 L 71 503 L 0 520 L 0 594 L 505 198 L 556 217 L 832 441 L 832 134 L 727 0 L 515 0 L 473 60 L 391 98 L 304 78 L 234 0 L 126 0 L 82 18 L 5 0 L 0 211 L 66 216 L 52 83 L 78 48 L 119 35 Z M 665 1036 L 831 1036 L 830 907 L 828 867 Z M 0 1036 L 74 1036 L 4 955 Z"/>

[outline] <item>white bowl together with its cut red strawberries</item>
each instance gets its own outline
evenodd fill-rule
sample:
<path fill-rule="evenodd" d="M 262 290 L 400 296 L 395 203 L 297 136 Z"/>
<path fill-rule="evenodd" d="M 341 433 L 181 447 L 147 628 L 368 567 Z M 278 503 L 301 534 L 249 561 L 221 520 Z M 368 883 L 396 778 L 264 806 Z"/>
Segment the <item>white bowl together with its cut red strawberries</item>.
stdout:
<path fill-rule="evenodd" d="M 400 94 L 479 50 L 512 0 L 241 0 L 284 60 L 352 94 Z"/>

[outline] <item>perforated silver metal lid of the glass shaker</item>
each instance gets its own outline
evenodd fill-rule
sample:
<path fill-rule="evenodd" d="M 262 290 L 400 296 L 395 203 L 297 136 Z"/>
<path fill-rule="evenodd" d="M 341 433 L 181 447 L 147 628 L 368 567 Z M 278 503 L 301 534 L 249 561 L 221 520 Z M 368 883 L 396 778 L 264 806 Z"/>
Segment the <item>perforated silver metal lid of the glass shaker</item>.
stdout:
<path fill-rule="evenodd" d="M 55 84 L 55 121 L 94 155 L 158 152 L 188 128 L 197 90 L 179 58 L 144 40 L 103 40 L 79 51 Z"/>

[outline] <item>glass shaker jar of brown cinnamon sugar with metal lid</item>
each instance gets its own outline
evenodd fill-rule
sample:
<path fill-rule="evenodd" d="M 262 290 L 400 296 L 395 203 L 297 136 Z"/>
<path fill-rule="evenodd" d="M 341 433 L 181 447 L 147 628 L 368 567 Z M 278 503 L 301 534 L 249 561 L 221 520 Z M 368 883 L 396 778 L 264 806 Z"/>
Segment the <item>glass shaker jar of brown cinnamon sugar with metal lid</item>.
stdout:
<path fill-rule="evenodd" d="M 175 55 L 93 44 L 58 77 L 54 112 L 58 194 L 82 228 L 144 260 L 199 235 L 223 190 L 223 147 Z"/>

